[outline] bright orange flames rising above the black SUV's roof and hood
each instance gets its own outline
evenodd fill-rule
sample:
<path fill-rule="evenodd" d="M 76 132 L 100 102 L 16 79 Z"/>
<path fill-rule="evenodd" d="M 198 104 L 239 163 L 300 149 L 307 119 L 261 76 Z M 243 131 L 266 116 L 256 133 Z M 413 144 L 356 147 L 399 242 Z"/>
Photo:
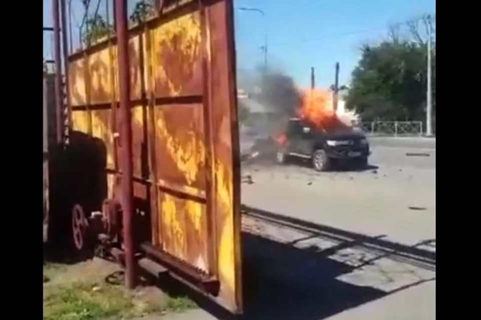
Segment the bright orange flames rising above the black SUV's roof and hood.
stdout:
<path fill-rule="evenodd" d="M 301 92 L 297 115 L 323 131 L 349 128 L 336 115 L 332 106 L 332 93 L 327 90 L 307 89 Z"/>

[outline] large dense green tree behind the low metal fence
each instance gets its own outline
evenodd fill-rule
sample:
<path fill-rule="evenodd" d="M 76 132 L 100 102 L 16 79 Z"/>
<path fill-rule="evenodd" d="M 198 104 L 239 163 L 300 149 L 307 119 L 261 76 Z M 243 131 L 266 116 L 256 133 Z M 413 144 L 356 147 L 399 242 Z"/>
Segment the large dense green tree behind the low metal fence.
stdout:
<path fill-rule="evenodd" d="M 435 46 L 433 46 L 435 47 Z M 432 90 L 435 91 L 435 50 L 432 50 Z M 346 106 L 364 121 L 421 120 L 426 105 L 427 46 L 413 41 L 364 45 L 352 72 Z M 435 95 L 432 97 L 433 108 Z"/>

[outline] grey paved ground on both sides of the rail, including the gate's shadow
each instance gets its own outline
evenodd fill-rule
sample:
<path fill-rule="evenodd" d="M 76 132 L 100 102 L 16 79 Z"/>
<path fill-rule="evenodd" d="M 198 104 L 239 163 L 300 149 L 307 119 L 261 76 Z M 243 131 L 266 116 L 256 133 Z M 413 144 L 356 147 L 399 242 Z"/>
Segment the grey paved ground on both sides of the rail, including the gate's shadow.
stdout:
<path fill-rule="evenodd" d="M 242 202 L 334 233 L 435 252 L 435 140 L 370 140 L 371 167 L 364 171 L 246 162 Z M 435 319 L 435 262 L 426 269 L 358 241 L 243 220 L 251 230 L 243 237 L 246 319 Z M 203 310 L 165 318 L 194 317 L 216 318 Z"/>

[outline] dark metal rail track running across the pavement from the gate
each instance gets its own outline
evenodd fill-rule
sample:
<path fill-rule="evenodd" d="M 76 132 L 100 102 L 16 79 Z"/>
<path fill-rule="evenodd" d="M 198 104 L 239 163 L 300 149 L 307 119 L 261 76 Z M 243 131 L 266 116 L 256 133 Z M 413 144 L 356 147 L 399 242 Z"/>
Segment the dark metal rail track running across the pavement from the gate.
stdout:
<path fill-rule="evenodd" d="M 258 233 L 258 235 L 261 236 L 265 235 L 262 234 L 262 225 L 271 225 L 282 229 L 295 230 L 296 232 L 305 235 L 306 238 L 317 237 L 334 242 L 337 244 L 337 250 L 352 247 L 364 252 L 375 253 L 376 257 L 372 260 L 386 257 L 431 271 L 436 270 L 435 239 L 422 241 L 416 243 L 415 245 L 409 246 L 382 239 L 383 236 L 373 237 L 365 234 L 346 231 L 332 226 L 304 221 L 247 205 L 242 206 L 242 213 L 245 217 L 254 219 L 258 226 L 260 226 L 258 227 L 257 231 L 253 229 L 246 231 Z M 292 244 L 294 245 L 295 243 Z M 432 250 L 432 248 L 434 248 L 434 250 Z"/>

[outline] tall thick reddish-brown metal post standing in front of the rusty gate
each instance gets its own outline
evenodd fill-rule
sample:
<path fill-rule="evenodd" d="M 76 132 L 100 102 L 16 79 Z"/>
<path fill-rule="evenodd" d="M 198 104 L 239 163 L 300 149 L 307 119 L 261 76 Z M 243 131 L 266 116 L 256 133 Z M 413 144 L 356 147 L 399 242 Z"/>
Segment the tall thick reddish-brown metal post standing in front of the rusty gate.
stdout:
<path fill-rule="evenodd" d="M 130 115 L 130 65 L 128 56 L 127 0 L 115 1 L 120 93 L 120 142 L 122 169 L 122 224 L 125 247 L 125 285 L 135 286 L 134 241 L 132 232 L 132 126 Z"/>

